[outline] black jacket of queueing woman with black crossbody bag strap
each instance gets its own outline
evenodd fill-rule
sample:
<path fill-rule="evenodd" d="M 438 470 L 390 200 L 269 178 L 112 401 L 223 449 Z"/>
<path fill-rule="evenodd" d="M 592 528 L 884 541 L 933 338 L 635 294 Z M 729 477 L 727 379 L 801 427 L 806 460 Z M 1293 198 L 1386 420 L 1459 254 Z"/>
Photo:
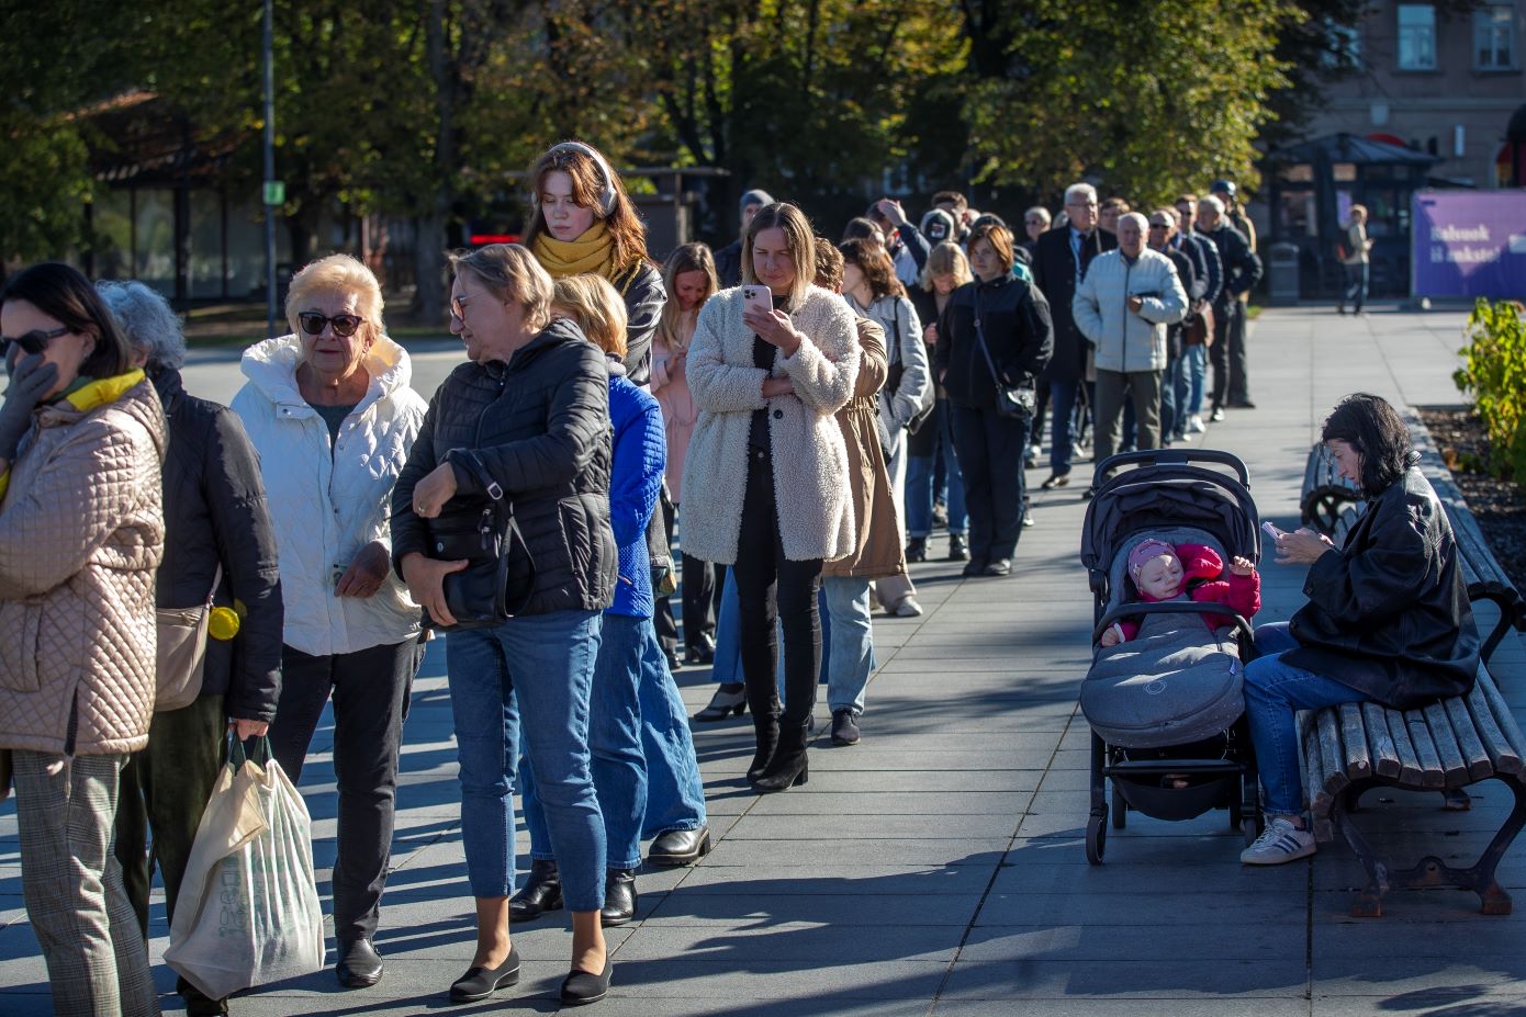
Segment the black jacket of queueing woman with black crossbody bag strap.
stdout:
<path fill-rule="evenodd" d="M 1033 387 L 1054 351 L 1048 302 L 1032 284 L 1003 273 L 992 282 L 966 282 L 943 305 L 934 346 L 934 378 L 951 401 L 977 410 L 996 406 L 996 380 L 975 337 L 975 316 L 1001 381 Z"/>

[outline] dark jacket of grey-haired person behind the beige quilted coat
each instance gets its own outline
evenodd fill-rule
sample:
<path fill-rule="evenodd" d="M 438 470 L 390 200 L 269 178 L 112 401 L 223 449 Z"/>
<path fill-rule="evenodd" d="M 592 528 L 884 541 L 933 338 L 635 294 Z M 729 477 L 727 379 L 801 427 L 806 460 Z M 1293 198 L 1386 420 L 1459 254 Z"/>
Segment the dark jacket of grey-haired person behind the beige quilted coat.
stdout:
<path fill-rule="evenodd" d="M 179 371 L 160 367 L 153 381 L 169 422 L 157 605 L 204 604 L 221 561 L 215 602 L 243 618 L 230 642 L 208 640 L 201 694 L 223 695 L 229 717 L 273 720 L 285 616 L 259 457 L 238 415 L 186 395 Z"/>

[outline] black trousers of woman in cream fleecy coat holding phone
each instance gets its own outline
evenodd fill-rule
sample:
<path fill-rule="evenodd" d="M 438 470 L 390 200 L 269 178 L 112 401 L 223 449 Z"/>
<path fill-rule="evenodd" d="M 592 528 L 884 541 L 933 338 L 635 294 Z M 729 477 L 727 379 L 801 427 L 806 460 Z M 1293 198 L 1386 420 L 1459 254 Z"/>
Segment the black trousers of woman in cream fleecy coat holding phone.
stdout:
<path fill-rule="evenodd" d="M 754 720 L 780 715 L 778 628 L 784 630 L 784 712 L 781 730 L 806 729 L 821 677 L 821 560 L 790 561 L 780 540 L 774 459 L 748 448 L 748 491 L 737 541 L 742 674 Z"/>

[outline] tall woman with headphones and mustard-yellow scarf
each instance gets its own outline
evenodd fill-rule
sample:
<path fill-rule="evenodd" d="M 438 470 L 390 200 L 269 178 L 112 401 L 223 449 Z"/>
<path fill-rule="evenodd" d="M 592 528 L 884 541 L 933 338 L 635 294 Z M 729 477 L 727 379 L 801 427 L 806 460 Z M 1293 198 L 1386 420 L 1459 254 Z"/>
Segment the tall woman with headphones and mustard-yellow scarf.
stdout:
<path fill-rule="evenodd" d="M 591 145 L 560 142 L 530 168 L 534 215 L 525 242 L 552 279 L 592 273 L 626 300 L 626 377 L 645 386 L 667 299 L 647 258 L 647 227 L 626 186 Z"/>

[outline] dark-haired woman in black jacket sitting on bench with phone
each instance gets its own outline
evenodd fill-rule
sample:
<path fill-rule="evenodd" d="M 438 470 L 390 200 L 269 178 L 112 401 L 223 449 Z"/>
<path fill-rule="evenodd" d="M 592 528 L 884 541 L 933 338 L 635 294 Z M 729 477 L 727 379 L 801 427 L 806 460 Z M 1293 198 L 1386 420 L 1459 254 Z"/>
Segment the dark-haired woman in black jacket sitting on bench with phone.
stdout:
<path fill-rule="evenodd" d="M 1341 549 L 1311 529 L 1277 534 L 1277 564 L 1309 566 L 1309 602 L 1291 622 L 1257 627 L 1262 656 L 1245 666 L 1267 814 L 1267 831 L 1241 852 L 1245 865 L 1314 854 L 1297 711 L 1367 700 L 1412 709 L 1466 694 L 1479 668 L 1457 543 L 1404 421 L 1384 399 L 1357 393 L 1325 421 L 1322 441 L 1367 508 Z"/>

